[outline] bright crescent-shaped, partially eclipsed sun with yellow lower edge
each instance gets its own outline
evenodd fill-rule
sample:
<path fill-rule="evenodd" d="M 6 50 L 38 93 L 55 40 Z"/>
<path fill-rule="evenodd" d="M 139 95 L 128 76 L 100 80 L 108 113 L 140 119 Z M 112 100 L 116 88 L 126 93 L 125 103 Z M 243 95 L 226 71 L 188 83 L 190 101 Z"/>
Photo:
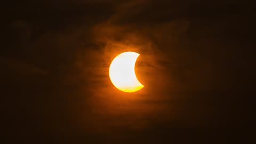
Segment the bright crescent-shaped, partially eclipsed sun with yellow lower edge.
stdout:
<path fill-rule="evenodd" d="M 109 77 L 113 85 L 123 92 L 136 92 L 144 86 L 135 74 L 135 62 L 139 53 L 124 52 L 116 56 L 109 67 Z"/>

